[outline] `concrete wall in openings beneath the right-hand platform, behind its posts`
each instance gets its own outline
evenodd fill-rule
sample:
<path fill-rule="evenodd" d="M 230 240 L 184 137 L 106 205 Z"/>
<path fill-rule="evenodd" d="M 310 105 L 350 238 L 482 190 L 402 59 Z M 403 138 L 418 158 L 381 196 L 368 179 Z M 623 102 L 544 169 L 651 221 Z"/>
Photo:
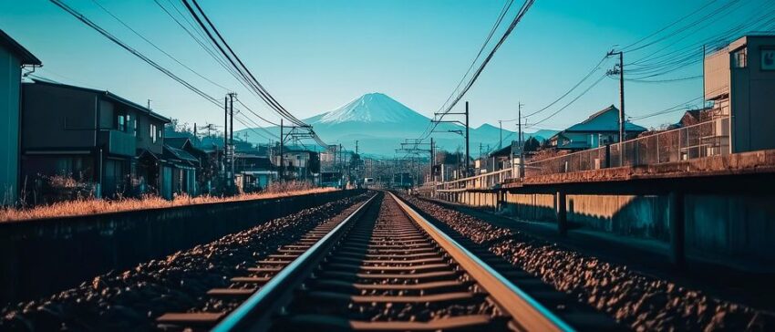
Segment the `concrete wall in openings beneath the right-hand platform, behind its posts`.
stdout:
<path fill-rule="evenodd" d="M 439 197 L 450 202 L 494 208 L 496 192 L 456 192 Z M 531 221 L 556 220 L 552 194 L 501 193 L 502 212 Z M 684 220 L 687 254 L 741 268 L 775 264 L 775 195 L 687 194 Z M 623 238 L 670 242 L 666 195 L 567 195 L 572 227 Z"/>

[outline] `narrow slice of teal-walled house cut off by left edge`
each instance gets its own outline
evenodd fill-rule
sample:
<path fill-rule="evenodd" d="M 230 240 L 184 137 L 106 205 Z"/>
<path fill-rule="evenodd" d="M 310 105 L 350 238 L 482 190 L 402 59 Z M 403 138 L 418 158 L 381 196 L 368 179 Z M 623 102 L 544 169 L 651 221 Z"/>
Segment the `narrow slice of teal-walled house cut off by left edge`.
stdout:
<path fill-rule="evenodd" d="M 42 63 L 11 36 L 0 30 L 0 199 L 13 204 L 20 190 L 19 141 L 22 67 Z"/>

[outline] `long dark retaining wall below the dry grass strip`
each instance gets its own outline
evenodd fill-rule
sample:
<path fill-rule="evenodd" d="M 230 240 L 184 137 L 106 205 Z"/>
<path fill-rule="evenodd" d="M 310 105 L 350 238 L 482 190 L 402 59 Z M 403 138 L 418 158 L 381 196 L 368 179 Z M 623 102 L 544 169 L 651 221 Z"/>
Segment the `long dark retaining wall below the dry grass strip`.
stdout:
<path fill-rule="evenodd" d="M 0 306 L 363 191 L 0 223 Z"/>

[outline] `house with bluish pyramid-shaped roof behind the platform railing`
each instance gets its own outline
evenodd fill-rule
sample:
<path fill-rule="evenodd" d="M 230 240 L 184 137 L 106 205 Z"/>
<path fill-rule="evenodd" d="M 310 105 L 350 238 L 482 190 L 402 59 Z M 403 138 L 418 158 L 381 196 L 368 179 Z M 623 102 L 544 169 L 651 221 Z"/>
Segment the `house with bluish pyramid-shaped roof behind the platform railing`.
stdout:
<path fill-rule="evenodd" d="M 625 121 L 625 140 L 637 137 L 646 128 Z M 584 121 L 562 130 L 549 139 L 558 150 L 594 149 L 619 141 L 619 109 L 611 105 Z"/>

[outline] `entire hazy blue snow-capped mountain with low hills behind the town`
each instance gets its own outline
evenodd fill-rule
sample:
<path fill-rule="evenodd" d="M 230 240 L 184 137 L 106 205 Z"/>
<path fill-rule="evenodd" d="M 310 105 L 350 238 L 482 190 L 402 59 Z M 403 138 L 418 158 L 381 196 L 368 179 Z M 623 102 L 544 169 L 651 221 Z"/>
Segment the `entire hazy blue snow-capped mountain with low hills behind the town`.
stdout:
<path fill-rule="evenodd" d="M 400 142 L 407 138 L 416 138 L 428 127 L 430 119 L 409 109 L 406 105 L 382 93 L 368 93 L 351 100 L 344 106 L 318 114 L 304 121 L 315 128 L 315 132 L 327 143 L 341 143 L 347 150 L 355 148 L 358 140 L 358 150 L 365 155 L 389 157 L 397 155 L 396 149 Z M 265 128 L 279 133 L 279 128 Z M 450 130 L 464 130 L 463 126 L 443 123 L 433 135 L 441 149 L 465 150 L 463 137 Z M 256 130 L 261 132 L 261 130 Z M 542 132 L 541 130 L 539 132 Z M 266 138 L 260 137 L 253 130 L 239 130 L 240 137 L 247 137 L 253 143 L 265 143 Z M 515 137 L 512 131 L 503 130 L 504 141 L 507 137 Z M 497 148 L 501 130 L 490 124 L 470 129 L 470 153 L 479 156 L 480 144 L 483 151 Z M 538 135 L 538 134 L 537 134 Z M 548 135 L 548 136 L 547 136 Z M 553 133 L 552 133 L 553 135 Z M 542 139 L 549 138 L 549 133 L 542 133 Z M 542 140 L 541 139 L 541 140 Z M 504 143 L 508 144 L 508 143 Z M 403 154 L 398 154 L 403 156 Z"/>

